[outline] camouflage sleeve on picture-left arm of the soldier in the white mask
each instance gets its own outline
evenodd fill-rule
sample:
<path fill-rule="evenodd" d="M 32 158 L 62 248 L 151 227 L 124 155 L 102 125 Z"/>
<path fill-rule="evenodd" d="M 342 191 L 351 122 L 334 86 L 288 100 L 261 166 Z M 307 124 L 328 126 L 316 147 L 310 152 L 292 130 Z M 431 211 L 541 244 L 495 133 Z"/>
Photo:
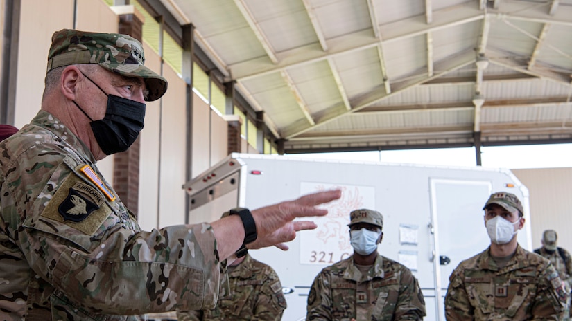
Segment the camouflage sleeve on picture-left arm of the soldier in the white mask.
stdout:
<path fill-rule="evenodd" d="M 449 277 L 449 287 L 445 295 L 445 318 L 447 320 L 474 320 L 474 306 L 471 306 L 465 279 L 461 268 L 456 268 Z"/>

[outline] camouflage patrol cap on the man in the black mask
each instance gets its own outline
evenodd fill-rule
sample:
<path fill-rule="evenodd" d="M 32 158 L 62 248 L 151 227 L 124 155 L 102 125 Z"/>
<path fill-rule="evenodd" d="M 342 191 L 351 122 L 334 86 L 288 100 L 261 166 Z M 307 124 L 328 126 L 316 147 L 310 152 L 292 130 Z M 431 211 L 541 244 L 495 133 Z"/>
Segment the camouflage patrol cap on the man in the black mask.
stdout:
<path fill-rule="evenodd" d="M 126 77 L 142 78 L 152 102 L 167 91 L 167 81 L 144 66 L 143 46 L 137 39 L 119 33 L 88 33 L 62 29 L 52 35 L 48 68 L 71 64 L 98 64 L 108 71 Z"/>

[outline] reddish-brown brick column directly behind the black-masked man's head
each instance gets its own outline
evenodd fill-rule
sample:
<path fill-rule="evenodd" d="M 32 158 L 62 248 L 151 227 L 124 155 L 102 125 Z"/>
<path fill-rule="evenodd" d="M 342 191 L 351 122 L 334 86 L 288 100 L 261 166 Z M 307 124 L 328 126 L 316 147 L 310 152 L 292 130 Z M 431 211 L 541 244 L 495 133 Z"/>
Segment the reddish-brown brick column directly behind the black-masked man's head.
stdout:
<path fill-rule="evenodd" d="M 130 6 L 121 6 L 130 7 Z M 121 8 L 119 7 L 119 8 Z M 118 7 L 116 7 L 118 8 Z M 132 8 L 132 7 L 131 7 Z M 139 12 L 119 14 L 119 33 L 143 42 L 143 18 Z M 139 136 L 140 137 L 140 136 Z M 125 206 L 135 214 L 139 211 L 139 149 L 140 138 L 131 147 L 114 155 L 113 188 Z"/>

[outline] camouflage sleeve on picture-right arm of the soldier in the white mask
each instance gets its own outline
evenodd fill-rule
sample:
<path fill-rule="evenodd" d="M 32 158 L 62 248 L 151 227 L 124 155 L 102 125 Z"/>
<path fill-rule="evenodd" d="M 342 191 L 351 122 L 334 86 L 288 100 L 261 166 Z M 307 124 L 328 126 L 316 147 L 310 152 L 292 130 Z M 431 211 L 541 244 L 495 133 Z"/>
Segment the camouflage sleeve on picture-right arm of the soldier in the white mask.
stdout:
<path fill-rule="evenodd" d="M 562 320 L 569 293 L 564 291 L 553 264 L 548 260 L 546 262 L 546 268 L 539 266 L 536 299 L 531 309 L 532 320 Z"/>

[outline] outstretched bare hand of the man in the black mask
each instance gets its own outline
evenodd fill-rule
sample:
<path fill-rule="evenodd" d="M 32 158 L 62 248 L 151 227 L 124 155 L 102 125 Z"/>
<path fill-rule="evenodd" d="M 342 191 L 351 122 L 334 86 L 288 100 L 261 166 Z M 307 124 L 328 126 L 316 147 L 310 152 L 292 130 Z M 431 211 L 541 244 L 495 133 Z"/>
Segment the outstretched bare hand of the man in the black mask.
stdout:
<path fill-rule="evenodd" d="M 258 237 L 256 241 L 248 244 L 248 248 L 275 245 L 282 250 L 288 250 L 284 242 L 295 239 L 296 232 L 316 228 L 313 221 L 293 220 L 298 217 L 322 217 L 328 211 L 315 206 L 339 199 L 341 196 L 340 190 L 329 190 L 253 210 L 252 217 L 257 225 Z"/>

